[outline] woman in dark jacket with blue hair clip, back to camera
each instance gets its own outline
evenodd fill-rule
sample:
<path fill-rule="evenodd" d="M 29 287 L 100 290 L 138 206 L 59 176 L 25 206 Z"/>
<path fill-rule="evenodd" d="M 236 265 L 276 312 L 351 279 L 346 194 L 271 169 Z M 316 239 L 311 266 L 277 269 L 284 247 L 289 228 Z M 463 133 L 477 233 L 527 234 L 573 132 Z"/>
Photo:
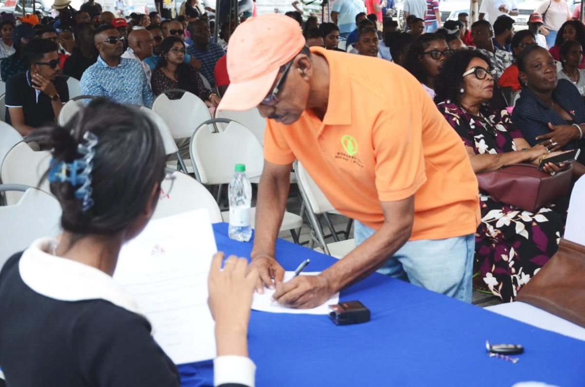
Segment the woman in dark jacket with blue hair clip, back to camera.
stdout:
<path fill-rule="evenodd" d="M 48 381 L 178 387 L 176 365 L 154 341 L 136 300 L 112 278 L 123 244 L 144 229 L 172 188 L 159 130 L 138 108 L 102 98 L 65 127 L 33 136 L 52 149 L 46 175 L 63 210 L 63 234 L 34 241 L 0 272 L 0 315 L 10 316 L 0 324 L 6 379 L 30 387 Z M 223 275 L 222 258 L 213 258 L 208 304 L 218 359 L 238 359 L 230 369 L 215 370 L 225 380 L 226 373 L 241 378 L 233 372 L 238 365 L 253 375 L 246 328 L 258 274 L 252 269 L 245 275 L 245 259 L 232 256 Z"/>

